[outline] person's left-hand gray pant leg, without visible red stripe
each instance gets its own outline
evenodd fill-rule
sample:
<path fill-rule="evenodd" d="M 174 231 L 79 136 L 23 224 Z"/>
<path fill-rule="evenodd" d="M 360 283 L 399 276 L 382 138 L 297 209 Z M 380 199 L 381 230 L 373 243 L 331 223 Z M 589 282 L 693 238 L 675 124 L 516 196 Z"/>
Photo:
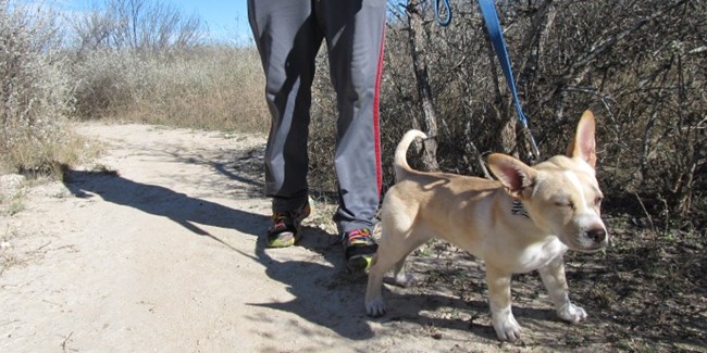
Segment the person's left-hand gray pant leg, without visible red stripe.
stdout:
<path fill-rule="evenodd" d="M 248 17 L 265 73 L 272 126 L 265 149 L 265 193 L 273 212 L 308 200 L 307 138 L 314 59 L 323 35 L 311 0 L 248 0 Z"/>

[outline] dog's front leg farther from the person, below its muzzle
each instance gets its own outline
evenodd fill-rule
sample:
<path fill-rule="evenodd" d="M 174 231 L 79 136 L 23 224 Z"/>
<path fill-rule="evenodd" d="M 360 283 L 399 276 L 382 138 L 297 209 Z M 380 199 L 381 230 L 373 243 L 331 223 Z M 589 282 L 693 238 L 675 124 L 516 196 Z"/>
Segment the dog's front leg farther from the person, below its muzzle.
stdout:
<path fill-rule="evenodd" d="M 586 312 L 570 302 L 569 289 L 567 279 L 565 278 L 565 263 L 562 255 L 553 260 L 547 266 L 538 269 L 543 283 L 547 288 L 547 292 L 555 304 L 557 316 L 570 323 L 579 323 L 586 318 Z"/>

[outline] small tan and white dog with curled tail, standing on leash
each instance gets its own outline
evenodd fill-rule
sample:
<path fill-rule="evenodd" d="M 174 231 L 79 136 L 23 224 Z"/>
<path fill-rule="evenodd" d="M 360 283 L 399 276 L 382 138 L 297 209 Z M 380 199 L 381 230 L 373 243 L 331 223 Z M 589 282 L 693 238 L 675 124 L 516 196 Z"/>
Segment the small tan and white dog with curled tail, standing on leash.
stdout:
<path fill-rule="evenodd" d="M 586 312 L 570 302 L 562 254 L 569 249 L 594 252 L 607 245 L 600 218 L 601 191 L 595 178 L 594 115 L 582 115 L 567 154 L 533 167 L 505 155 L 488 156 L 498 178 L 410 168 L 410 130 L 395 151 L 396 185 L 382 206 L 382 238 L 369 273 L 365 310 L 385 313 L 381 295 L 383 276 L 390 268 L 399 286 L 412 283 L 402 270 L 407 255 L 432 237 L 469 251 L 486 264 L 488 303 L 496 335 L 514 341 L 521 327 L 511 312 L 511 275 L 537 269 L 557 315 L 570 323 Z"/>

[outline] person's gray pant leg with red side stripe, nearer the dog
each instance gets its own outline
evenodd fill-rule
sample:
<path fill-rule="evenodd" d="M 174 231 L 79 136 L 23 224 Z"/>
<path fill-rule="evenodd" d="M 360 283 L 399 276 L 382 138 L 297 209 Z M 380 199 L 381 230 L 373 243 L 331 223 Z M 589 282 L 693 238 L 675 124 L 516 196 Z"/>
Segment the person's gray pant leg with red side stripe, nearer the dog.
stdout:
<path fill-rule="evenodd" d="M 385 11 L 385 0 L 322 0 L 318 5 L 339 113 L 334 165 L 339 182 L 335 220 L 342 234 L 372 229 L 380 203 Z"/>

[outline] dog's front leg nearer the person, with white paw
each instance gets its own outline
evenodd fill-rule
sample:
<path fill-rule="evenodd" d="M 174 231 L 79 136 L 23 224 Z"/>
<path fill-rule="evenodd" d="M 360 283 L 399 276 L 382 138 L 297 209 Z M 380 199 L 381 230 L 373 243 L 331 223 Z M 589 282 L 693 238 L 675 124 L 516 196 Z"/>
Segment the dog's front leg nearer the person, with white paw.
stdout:
<path fill-rule="evenodd" d="M 510 279 L 512 274 L 498 270 L 486 264 L 486 282 L 488 285 L 488 306 L 496 336 L 501 341 L 520 339 L 522 329 L 511 311 Z"/>

